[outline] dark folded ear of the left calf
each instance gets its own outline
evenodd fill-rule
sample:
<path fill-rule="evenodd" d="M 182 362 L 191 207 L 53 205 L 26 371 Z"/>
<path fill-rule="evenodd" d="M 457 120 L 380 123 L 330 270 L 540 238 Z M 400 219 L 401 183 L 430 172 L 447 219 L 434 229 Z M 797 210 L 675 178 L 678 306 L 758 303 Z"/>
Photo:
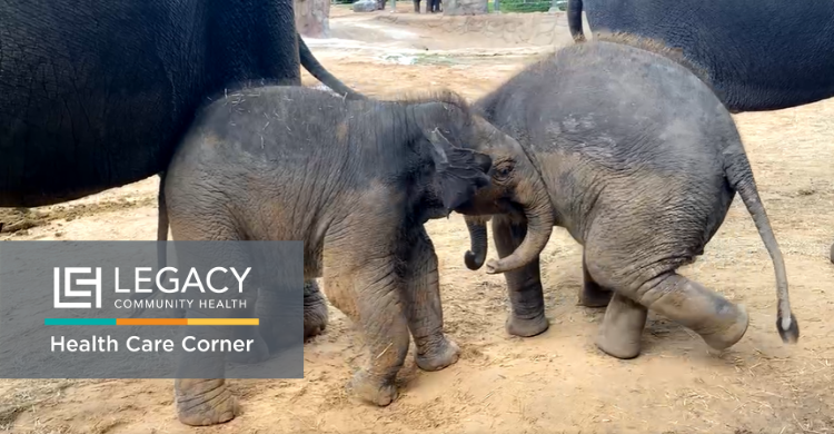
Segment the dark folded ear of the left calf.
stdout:
<path fill-rule="evenodd" d="M 479 188 L 489 185 L 487 172 L 493 159 L 486 154 L 454 147 L 437 128 L 427 131 L 426 136 L 431 144 L 429 149 L 435 161 L 438 194 L 448 215 L 471 199 Z"/>

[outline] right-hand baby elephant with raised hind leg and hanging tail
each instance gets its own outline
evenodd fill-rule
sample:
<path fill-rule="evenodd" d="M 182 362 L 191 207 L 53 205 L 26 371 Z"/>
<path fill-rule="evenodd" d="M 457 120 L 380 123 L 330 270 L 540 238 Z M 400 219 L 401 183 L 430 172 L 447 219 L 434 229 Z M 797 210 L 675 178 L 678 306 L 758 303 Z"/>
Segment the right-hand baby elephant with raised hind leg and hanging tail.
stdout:
<path fill-rule="evenodd" d="M 729 112 L 679 63 L 619 42 L 564 48 L 476 103 L 533 155 L 556 224 L 584 246 L 580 303 L 608 306 L 597 346 L 618 358 L 636 357 L 648 308 L 714 348 L 742 338 L 745 309 L 676 273 L 704 253 L 736 191 L 773 258 L 778 333 L 795 343 L 800 332 L 782 254 Z M 493 157 L 493 164 L 507 161 Z M 497 209 L 512 194 L 488 187 L 467 208 L 496 214 L 493 235 L 502 257 L 526 231 L 523 216 Z M 474 249 L 466 262 L 477 269 L 486 228 L 467 220 Z M 493 264 L 488 272 L 507 272 L 508 333 L 534 336 L 548 328 L 538 260 L 512 270 Z"/>

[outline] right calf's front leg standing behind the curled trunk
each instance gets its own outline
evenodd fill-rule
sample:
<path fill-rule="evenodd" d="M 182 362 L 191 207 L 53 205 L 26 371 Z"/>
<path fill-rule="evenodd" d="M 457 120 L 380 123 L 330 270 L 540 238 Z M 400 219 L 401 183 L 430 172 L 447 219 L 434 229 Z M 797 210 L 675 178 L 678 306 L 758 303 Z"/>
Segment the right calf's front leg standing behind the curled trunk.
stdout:
<path fill-rule="evenodd" d="M 493 239 L 498 257 L 509 256 L 527 235 L 526 223 L 513 221 L 509 216 L 493 217 Z M 530 337 L 544 333 L 549 327 L 545 317 L 545 297 L 542 289 L 538 256 L 522 268 L 504 273 L 509 293 L 510 316 L 507 318 L 507 333 Z"/>

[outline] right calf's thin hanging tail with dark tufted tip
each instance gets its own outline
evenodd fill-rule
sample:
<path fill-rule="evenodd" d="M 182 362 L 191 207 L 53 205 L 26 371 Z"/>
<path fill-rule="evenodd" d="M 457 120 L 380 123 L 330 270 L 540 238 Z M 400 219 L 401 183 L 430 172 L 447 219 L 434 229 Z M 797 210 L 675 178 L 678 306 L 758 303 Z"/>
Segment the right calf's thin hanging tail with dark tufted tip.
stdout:
<path fill-rule="evenodd" d="M 744 206 L 753 217 L 758 235 L 762 237 L 765 248 L 767 248 L 767 253 L 773 260 L 773 267 L 776 272 L 776 329 L 780 333 L 780 337 L 782 337 L 782 342 L 795 344 L 800 339 L 800 324 L 791 312 L 785 262 L 782 258 L 782 250 L 780 250 L 778 243 L 776 243 L 776 236 L 773 234 L 767 213 L 764 205 L 762 205 L 762 198 L 758 196 L 756 181 L 753 178 L 753 169 L 751 168 L 747 155 L 744 152 L 741 138 L 737 139 L 735 145 L 729 146 L 725 150 L 724 158 L 724 172 L 727 176 L 727 180 L 738 191 L 738 196 L 742 197 L 742 201 L 744 201 Z"/>

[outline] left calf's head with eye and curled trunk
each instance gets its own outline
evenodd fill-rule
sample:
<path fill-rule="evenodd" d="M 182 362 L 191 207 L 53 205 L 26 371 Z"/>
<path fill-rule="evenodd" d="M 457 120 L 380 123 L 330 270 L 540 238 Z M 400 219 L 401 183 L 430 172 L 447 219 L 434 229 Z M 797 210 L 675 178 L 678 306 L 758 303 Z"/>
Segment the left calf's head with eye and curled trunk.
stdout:
<path fill-rule="evenodd" d="M 457 207 L 469 229 L 470 250 L 465 262 L 469 269 L 484 265 L 487 251 L 486 223 L 494 214 L 524 215 L 527 236 L 518 248 L 502 259 L 487 263 L 487 273 L 498 274 L 525 266 L 545 248 L 554 226 L 554 211 L 536 162 L 522 145 L 481 117 L 474 117 L 479 137 L 467 146 L 492 158 L 490 184 Z M 441 136 L 440 136 L 441 137 Z M 443 138 L 443 137 L 441 137 Z"/>

